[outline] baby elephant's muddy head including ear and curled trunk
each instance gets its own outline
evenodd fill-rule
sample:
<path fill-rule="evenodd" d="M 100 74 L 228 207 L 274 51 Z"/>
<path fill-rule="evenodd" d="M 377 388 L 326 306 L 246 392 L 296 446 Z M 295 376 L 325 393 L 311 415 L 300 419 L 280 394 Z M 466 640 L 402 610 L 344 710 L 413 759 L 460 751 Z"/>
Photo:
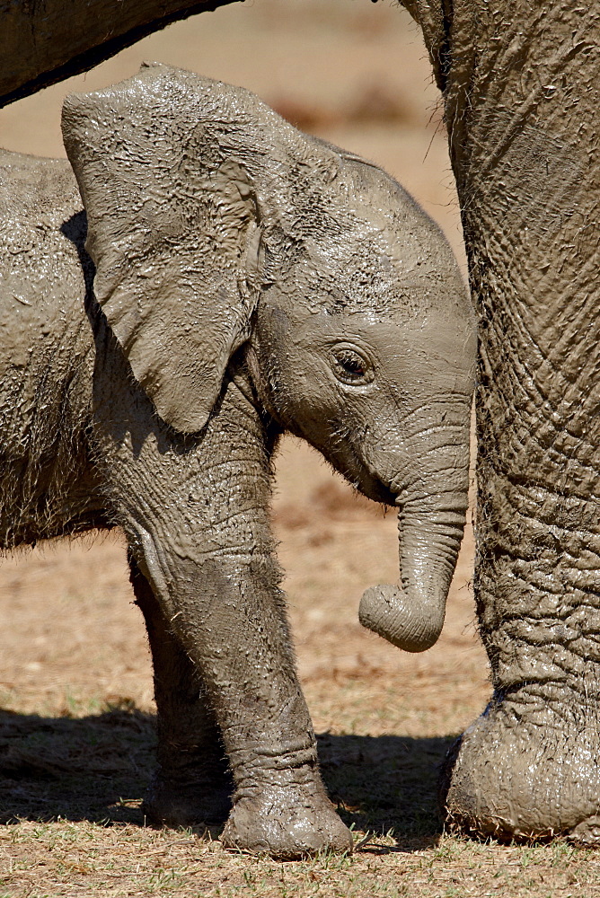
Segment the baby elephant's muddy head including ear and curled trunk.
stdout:
<path fill-rule="evenodd" d="M 360 619 L 436 641 L 467 503 L 472 311 L 442 234 L 375 165 L 168 66 L 67 99 L 94 289 L 159 416 L 207 423 L 243 348 L 262 407 L 398 507 L 401 583 Z"/>

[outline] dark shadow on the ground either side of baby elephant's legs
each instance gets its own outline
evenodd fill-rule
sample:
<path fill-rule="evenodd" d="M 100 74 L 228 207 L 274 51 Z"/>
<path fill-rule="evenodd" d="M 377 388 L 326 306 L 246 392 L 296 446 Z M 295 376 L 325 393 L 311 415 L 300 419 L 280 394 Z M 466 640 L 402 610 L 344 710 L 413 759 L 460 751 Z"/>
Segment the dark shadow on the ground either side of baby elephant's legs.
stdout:
<path fill-rule="evenodd" d="M 144 825 L 154 725 L 153 715 L 128 706 L 85 718 L 0 710 L 0 823 L 62 817 Z M 437 841 L 438 768 L 452 736 L 318 738 L 323 778 L 346 823 L 375 834 L 393 830 L 397 850 Z"/>

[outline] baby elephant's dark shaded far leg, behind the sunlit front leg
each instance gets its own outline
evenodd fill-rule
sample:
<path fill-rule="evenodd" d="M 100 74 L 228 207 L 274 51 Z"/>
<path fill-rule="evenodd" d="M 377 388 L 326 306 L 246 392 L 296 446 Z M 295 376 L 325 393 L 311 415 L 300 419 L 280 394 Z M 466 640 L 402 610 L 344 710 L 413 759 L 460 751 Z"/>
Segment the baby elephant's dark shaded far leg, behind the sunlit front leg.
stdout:
<path fill-rule="evenodd" d="M 129 569 L 146 621 L 157 712 L 158 770 L 144 813 L 167 826 L 225 823 L 233 783 L 206 688 L 133 557 Z"/>

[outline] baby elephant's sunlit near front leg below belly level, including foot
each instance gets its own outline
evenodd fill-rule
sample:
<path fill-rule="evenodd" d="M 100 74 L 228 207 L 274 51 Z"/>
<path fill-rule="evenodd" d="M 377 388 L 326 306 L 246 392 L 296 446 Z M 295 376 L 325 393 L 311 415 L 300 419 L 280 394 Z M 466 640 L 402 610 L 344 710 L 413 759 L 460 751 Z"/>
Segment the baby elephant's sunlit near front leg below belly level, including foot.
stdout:
<path fill-rule="evenodd" d="M 180 563 L 179 577 L 181 590 L 196 586 L 201 623 L 190 653 L 198 653 L 234 778 L 223 843 L 278 858 L 350 850 L 322 785 L 272 559 Z"/>

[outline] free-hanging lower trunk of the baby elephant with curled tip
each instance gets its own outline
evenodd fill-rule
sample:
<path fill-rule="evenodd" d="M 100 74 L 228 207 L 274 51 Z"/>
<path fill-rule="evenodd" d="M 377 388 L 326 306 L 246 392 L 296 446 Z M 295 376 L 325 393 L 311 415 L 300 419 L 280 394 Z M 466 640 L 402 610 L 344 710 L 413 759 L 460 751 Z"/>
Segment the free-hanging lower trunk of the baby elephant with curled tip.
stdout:
<path fill-rule="evenodd" d="M 434 645 L 444 625 L 465 511 L 466 489 L 400 506 L 400 584 L 366 590 L 358 612 L 364 627 L 406 652 Z"/>

